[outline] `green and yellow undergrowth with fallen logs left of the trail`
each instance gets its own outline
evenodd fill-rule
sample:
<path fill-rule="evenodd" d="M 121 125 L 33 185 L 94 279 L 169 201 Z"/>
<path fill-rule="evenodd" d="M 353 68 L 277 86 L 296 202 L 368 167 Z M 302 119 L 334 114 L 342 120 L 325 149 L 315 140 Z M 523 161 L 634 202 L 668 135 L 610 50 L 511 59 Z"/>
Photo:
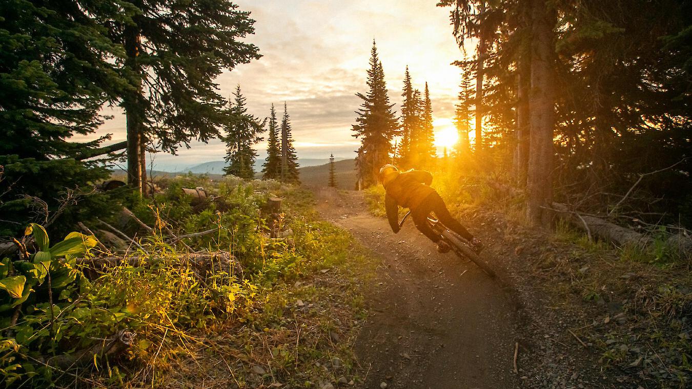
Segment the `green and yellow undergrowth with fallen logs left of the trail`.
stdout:
<path fill-rule="evenodd" d="M 80 224 L 85 234 L 52 239 L 30 224 L 3 255 L 6 385 L 358 381 L 347 345 L 363 317 L 355 277 L 372 269 L 348 234 L 316 219 L 309 192 L 234 177 L 159 184 L 153 198 L 131 198 L 131 211 Z M 200 186 L 215 196 L 181 190 Z M 284 199 L 276 219 L 275 196 Z M 318 368 L 325 358 L 341 366 Z"/>

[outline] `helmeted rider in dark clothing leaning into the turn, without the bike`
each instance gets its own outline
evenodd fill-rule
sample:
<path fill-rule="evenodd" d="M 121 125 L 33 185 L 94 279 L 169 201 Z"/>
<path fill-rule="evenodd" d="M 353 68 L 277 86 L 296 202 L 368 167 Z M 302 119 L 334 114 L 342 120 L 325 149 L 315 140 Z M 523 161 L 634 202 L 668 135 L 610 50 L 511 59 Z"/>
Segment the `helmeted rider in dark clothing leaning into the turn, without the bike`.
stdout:
<path fill-rule="evenodd" d="M 437 251 L 449 252 L 450 247 L 441 240 L 441 236 L 432 231 L 428 225 L 430 212 L 435 213 L 445 227 L 462 236 L 471 243 L 471 249 L 478 253 L 483 249 L 483 244 L 474 238 L 464 226 L 453 218 L 444 204 L 444 200 L 435 189 L 430 187 L 432 174 L 428 171 L 410 170 L 399 172 L 392 164 L 385 164 L 380 169 L 380 182 L 385 188 L 385 210 L 387 219 L 394 233 L 399 232 L 399 207 L 408 208 L 416 228 L 430 240 L 437 243 Z"/>

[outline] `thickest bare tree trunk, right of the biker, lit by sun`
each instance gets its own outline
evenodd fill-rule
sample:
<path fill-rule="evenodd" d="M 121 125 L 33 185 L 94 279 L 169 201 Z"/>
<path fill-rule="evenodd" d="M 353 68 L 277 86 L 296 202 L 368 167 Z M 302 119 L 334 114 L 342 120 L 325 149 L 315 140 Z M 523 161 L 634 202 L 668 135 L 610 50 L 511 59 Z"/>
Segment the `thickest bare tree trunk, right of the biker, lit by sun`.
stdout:
<path fill-rule="evenodd" d="M 554 31 L 556 12 L 552 2 L 531 0 L 531 135 L 527 171 L 527 219 L 531 225 L 552 221 L 554 97 Z"/>

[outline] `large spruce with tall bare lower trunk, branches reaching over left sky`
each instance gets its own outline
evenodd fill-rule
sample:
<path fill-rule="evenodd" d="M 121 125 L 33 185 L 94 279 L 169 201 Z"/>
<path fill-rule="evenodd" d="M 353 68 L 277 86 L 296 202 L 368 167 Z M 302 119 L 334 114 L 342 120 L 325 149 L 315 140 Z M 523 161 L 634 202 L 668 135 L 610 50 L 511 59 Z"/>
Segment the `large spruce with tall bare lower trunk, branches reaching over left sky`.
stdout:
<path fill-rule="evenodd" d="M 207 142 L 228 122 L 217 76 L 260 55 L 239 39 L 254 32 L 249 12 L 230 0 L 125 0 L 113 3 L 124 20 L 107 23 L 125 48 L 118 62 L 131 87 L 121 91 L 127 117 L 128 182 L 143 190 L 145 146 L 175 153 Z"/>

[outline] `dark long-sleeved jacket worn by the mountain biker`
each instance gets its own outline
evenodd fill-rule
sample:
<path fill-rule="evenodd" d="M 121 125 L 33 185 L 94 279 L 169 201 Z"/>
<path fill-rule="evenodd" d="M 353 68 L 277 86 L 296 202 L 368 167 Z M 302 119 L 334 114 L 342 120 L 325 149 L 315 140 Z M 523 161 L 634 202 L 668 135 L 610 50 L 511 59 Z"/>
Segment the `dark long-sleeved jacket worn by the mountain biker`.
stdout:
<path fill-rule="evenodd" d="M 416 209 L 430 193 L 432 174 L 428 171 L 412 170 L 399 173 L 397 178 L 385 185 L 385 210 L 392 231 L 399 232 L 399 207 Z"/>

